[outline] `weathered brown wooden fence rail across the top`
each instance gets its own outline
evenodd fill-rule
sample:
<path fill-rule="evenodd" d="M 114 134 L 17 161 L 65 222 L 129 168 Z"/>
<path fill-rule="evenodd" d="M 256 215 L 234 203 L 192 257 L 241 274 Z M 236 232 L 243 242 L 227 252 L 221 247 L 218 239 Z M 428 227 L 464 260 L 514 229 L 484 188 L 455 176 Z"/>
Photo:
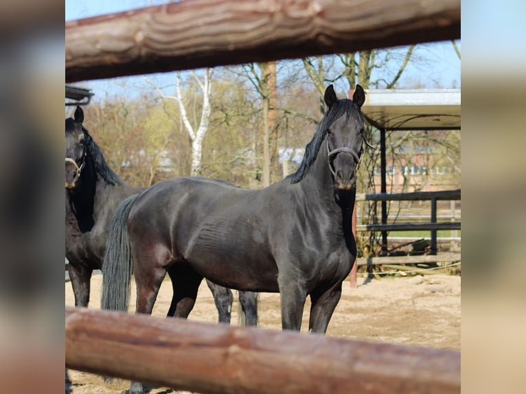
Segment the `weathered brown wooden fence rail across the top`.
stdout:
<path fill-rule="evenodd" d="M 460 38 L 460 0 L 192 0 L 66 23 L 66 82 Z"/>

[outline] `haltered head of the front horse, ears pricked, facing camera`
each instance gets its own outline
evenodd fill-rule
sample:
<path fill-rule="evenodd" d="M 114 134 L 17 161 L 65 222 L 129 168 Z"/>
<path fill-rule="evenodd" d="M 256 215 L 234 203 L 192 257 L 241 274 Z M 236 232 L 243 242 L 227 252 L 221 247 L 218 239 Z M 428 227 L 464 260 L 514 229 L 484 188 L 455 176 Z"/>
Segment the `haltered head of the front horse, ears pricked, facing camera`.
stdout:
<path fill-rule="evenodd" d="M 338 100 L 332 85 L 325 90 L 325 104 L 328 106 L 325 116 L 328 119 L 334 116 L 325 130 L 327 159 L 334 185 L 339 190 L 356 187 L 356 170 L 363 153 L 364 120 L 360 108 L 364 102 L 365 93 L 360 85 L 356 85 L 352 101 Z M 332 111 L 335 111 L 334 115 Z"/>

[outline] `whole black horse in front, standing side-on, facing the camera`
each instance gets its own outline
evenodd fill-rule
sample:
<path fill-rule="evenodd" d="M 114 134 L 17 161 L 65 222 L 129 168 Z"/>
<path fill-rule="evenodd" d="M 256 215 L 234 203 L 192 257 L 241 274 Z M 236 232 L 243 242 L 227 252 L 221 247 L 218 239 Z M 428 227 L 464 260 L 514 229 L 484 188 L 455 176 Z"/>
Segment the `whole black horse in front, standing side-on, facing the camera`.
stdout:
<path fill-rule="evenodd" d="M 201 279 L 279 292 L 283 329 L 301 328 L 310 296 L 310 332 L 325 333 L 356 258 L 352 211 L 363 152 L 365 93 L 328 106 L 297 172 L 259 190 L 204 178 L 173 178 L 128 198 L 115 214 L 103 267 L 102 308 L 126 310 L 130 273 L 137 312 L 150 314 L 168 272 L 186 317 Z M 131 393 L 141 393 L 134 382 Z"/>

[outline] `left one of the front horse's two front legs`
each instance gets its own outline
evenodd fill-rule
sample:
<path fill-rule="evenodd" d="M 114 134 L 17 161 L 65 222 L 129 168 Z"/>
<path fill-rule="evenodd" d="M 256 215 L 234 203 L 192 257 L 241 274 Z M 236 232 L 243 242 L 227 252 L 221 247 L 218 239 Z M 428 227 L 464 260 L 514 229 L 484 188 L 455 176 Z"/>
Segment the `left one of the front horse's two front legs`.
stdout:
<path fill-rule="evenodd" d="M 296 279 L 295 277 L 284 278 L 280 274 L 277 283 L 282 309 L 282 328 L 299 331 L 307 295 L 304 286 L 297 283 Z"/>

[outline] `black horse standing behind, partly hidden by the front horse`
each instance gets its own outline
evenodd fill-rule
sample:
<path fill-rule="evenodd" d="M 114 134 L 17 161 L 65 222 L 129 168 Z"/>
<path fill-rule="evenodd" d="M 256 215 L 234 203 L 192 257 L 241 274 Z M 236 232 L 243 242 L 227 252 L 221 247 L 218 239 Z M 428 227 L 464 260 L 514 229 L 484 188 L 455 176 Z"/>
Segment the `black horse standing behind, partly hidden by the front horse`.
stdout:
<path fill-rule="evenodd" d="M 126 185 L 111 170 L 100 148 L 82 126 L 83 121 L 84 113 L 79 106 L 74 119 L 66 119 L 66 257 L 76 306 L 89 303 L 91 274 L 102 268 L 106 238 L 117 207 L 126 197 L 145 189 Z M 231 290 L 207 283 L 214 294 L 219 322 L 230 323 Z M 240 292 L 247 325 L 257 323 L 256 296 L 252 292 Z M 174 305 L 168 316 L 174 314 Z"/>

